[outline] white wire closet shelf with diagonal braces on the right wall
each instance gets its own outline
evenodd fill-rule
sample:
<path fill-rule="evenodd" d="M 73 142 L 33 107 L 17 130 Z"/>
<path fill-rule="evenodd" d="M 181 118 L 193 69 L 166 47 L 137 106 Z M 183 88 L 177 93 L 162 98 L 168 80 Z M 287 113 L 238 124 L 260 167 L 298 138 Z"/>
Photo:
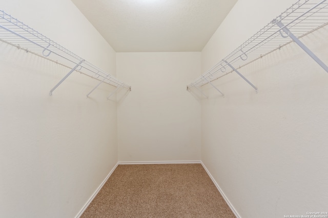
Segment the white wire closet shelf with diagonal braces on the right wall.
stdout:
<path fill-rule="evenodd" d="M 326 0 L 299 0 L 286 11 L 268 23 L 237 49 L 223 58 L 211 69 L 187 86 L 187 90 L 196 88 L 202 95 L 200 87 L 212 82 L 232 71 L 235 71 L 242 79 L 248 82 L 258 92 L 250 81 L 243 77 L 236 68 L 245 66 L 264 55 L 267 55 L 292 41 L 296 42 L 308 53 L 325 71 L 328 67 L 317 58 L 300 40 L 302 36 L 309 34 L 328 24 L 328 3 Z"/>

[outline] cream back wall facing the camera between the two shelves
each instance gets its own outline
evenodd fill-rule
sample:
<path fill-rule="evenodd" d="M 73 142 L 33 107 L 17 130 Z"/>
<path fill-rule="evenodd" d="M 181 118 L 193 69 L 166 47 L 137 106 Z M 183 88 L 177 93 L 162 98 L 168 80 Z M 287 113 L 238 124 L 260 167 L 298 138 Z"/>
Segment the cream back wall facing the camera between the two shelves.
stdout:
<path fill-rule="evenodd" d="M 117 53 L 117 75 L 132 86 L 118 103 L 119 161 L 200 160 L 200 104 L 186 90 L 200 52 Z"/>

